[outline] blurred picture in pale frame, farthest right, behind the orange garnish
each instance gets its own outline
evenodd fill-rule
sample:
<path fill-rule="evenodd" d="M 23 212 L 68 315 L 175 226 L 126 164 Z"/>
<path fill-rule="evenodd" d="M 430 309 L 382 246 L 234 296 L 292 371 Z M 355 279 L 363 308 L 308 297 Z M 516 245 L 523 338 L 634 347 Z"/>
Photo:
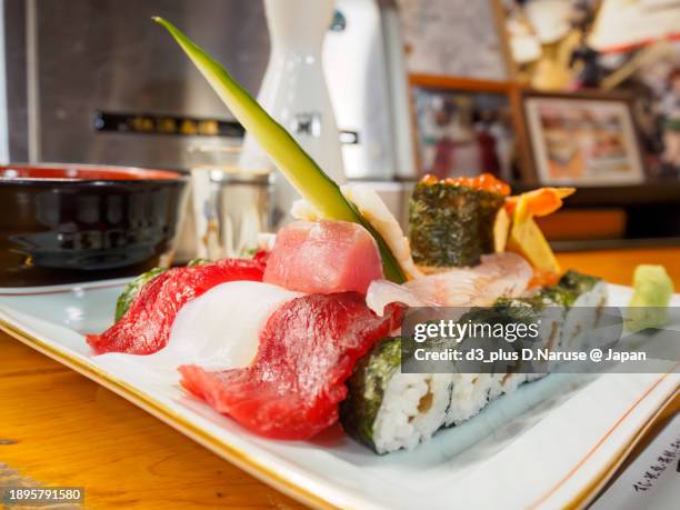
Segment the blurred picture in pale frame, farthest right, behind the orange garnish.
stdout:
<path fill-rule="evenodd" d="M 618 186 L 644 180 L 627 99 L 603 93 L 529 93 L 523 107 L 540 183 Z"/>

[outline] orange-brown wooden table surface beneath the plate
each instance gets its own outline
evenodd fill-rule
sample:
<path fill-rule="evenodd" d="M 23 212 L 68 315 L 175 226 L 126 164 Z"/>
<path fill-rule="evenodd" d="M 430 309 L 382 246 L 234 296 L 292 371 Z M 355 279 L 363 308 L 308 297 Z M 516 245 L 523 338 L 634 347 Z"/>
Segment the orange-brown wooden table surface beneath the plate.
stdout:
<path fill-rule="evenodd" d="M 680 248 L 562 253 L 564 268 L 629 284 Z M 122 398 L 0 333 L 0 487 L 86 489 L 88 508 L 299 508 Z"/>

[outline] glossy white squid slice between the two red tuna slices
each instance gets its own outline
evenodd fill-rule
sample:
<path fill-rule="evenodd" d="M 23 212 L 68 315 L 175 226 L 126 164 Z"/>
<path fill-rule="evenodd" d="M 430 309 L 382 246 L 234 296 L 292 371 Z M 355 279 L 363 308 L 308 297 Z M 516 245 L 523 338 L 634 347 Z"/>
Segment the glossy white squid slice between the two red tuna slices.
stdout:
<path fill-rule="evenodd" d="M 108 353 L 104 367 L 141 366 L 159 377 L 178 379 L 177 367 L 210 370 L 242 368 L 258 350 L 260 331 L 283 303 L 302 296 L 269 283 L 229 281 L 184 304 L 170 329 L 168 344 L 149 356 Z"/>

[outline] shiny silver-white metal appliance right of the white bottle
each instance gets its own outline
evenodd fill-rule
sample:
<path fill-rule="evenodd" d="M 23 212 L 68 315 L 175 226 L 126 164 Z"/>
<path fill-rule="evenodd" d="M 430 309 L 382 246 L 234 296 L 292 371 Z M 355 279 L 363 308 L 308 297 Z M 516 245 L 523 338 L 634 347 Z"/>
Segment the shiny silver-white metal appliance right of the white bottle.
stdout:
<path fill-rule="evenodd" d="M 412 171 L 412 152 L 404 159 L 398 149 L 410 148 L 411 137 L 396 12 L 393 1 L 337 0 L 326 36 L 323 64 L 348 179 L 390 180 Z M 397 124 L 404 120 L 406 132 Z"/>

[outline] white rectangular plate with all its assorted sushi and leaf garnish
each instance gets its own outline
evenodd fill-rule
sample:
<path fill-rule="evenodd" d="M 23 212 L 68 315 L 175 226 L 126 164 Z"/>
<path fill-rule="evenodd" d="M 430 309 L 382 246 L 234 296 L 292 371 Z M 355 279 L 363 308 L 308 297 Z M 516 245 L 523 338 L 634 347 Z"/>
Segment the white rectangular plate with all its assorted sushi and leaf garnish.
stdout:
<path fill-rule="evenodd" d="M 157 21 L 300 192 L 296 221 L 248 258 L 2 289 L 0 328 L 314 507 L 590 501 L 677 404 L 677 363 L 411 372 L 404 317 L 456 307 L 461 320 L 490 310 L 514 323 L 550 309 L 546 344 L 561 352 L 606 306 L 653 307 L 636 320 L 660 323 L 680 306 L 663 268 L 639 268 L 633 288 L 561 268 L 534 218 L 576 190 L 513 196 L 490 174 L 423 178 L 404 233 L 374 191 L 331 180 L 224 69 Z"/>

